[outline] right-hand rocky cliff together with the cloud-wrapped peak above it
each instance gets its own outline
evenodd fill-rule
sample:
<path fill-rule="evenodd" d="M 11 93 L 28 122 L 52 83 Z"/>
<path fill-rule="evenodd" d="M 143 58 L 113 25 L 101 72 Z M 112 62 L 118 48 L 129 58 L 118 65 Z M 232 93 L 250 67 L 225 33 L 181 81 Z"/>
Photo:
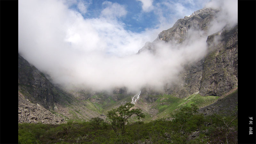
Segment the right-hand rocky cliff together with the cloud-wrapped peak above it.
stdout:
<path fill-rule="evenodd" d="M 206 34 L 210 22 L 220 10 L 205 8 L 178 20 L 172 28 L 162 31 L 155 41 L 147 42 L 138 53 L 156 51 L 156 43 L 182 43 L 188 36 L 188 29 L 202 30 Z M 238 85 L 237 54 L 238 25 L 224 27 L 207 37 L 208 54 L 201 60 L 184 66 L 177 82 L 165 85 L 166 94 L 186 97 L 195 92 L 200 95 L 222 96 Z M 148 92 L 143 92 L 148 93 Z M 143 94 L 142 93 L 142 94 Z M 149 92 L 150 93 L 150 92 Z M 154 93 L 154 92 L 153 92 Z"/>

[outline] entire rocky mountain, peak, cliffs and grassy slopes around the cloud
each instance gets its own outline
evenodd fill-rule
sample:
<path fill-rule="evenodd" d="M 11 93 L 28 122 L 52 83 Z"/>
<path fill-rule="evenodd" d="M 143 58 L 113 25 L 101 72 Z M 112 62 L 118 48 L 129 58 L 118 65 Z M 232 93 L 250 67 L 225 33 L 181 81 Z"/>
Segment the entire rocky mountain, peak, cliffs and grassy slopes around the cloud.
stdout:
<path fill-rule="evenodd" d="M 238 25 L 232 28 L 225 26 L 217 33 L 209 33 L 211 23 L 219 12 L 204 8 L 185 16 L 139 50 L 138 55 L 143 52 L 155 54 L 159 49 L 158 43 L 189 43 L 187 40 L 192 30 L 206 36 L 207 53 L 200 59 L 184 63 L 177 80 L 166 83 L 164 91 L 148 86 L 137 95 L 127 92 L 125 87 L 116 87 L 111 92 L 78 88 L 65 90 L 52 84 L 45 74 L 19 54 L 19 123 L 59 124 L 96 116 L 105 119 L 108 110 L 132 102 L 133 96 L 133 100 L 136 99 L 136 102 L 133 101 L 135 108 L 141 108 L 146 114 L 143 121 L 169 119 L 170 112 L 191 103 L 196 104 L 205 115 L 223 111 L 227 114 L 237 106 Z"/>

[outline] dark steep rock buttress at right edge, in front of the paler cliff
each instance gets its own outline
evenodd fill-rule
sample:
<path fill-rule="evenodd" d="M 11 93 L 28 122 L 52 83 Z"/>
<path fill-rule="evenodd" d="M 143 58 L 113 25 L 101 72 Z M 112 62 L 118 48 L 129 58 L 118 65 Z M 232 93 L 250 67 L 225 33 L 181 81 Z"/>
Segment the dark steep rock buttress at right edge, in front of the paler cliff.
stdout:
<path fill-rule="evenodd" d="M 220 34 L 220 43 L 214 46 L 211 46 L 214 42 L 207 39 L 212 52 L 204 59 L 200 95 L 221 96 L 238 85 L 237 32 L 237 25 L 230 30 L 224 28 Z"/>

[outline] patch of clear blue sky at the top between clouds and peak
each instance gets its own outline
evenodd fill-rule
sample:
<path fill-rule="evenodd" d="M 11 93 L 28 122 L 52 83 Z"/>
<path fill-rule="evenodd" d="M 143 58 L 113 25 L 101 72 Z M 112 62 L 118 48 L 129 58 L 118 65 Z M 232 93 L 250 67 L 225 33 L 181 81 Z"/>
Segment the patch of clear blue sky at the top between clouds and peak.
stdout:
<path fill-rule="evenodd" d="M 110 5 L 116 4 L 116 7 L 122 7 L 125 11 L 124 15 L 117 17 L 116 19 L 121 23 L 125 24 L 124 28 L 126 30 L 139 33 L 141 31 L 145 31 L 148 28 L 158 28 L 163 22 L 169 23 L 171 26 L 174 21 L 203 8 L 208 1 L 70 0 L 69 8 L 80 12 L 83 15 L 84 19 L 90 19 L 100 17 L 102 10 Z M 84 11 L 79 10 L 79 3 L 80 5 L 84 4 Z M 177 11 L 177 9 L 179 10 Z M 109 10 L 111 10 L 111 8 Z"/>

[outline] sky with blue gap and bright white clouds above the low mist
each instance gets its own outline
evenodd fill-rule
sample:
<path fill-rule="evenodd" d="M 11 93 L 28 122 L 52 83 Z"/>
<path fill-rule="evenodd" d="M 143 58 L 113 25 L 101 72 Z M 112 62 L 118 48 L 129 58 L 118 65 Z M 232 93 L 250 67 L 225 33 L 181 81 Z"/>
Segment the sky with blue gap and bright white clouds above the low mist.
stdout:
<path fill-rule="evenodd" d="M 33 39 L 52 36 L 70 45 L 68 49 L 123 57 L 137 53 L 161 31 L 206 3 L 207 0 L 22 0 L 19 26 L 28 27 L 35 35 Z"/>

